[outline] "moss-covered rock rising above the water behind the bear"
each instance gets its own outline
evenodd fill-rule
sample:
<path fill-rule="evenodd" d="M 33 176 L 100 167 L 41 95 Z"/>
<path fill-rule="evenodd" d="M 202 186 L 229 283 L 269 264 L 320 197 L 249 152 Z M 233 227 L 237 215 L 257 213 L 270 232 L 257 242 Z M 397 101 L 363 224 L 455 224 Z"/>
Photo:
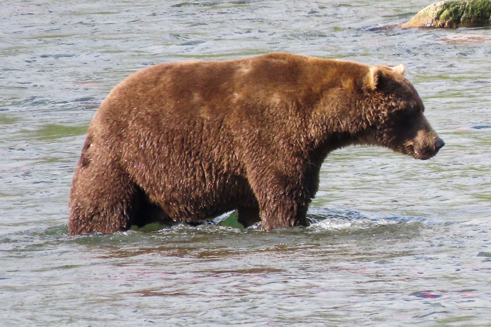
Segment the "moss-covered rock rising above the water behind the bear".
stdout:
<path fill-rule="evenodd" d="M 491 0 L 445 0 L 430 4 L 400 27 L 479 27 L 489 26 Z"/>

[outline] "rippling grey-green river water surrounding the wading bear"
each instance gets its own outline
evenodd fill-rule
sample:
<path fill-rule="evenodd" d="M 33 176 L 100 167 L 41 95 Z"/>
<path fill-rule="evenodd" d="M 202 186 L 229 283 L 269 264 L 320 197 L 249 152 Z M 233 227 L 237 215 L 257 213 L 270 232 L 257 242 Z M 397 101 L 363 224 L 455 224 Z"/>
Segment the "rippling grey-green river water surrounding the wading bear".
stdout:
<path fill-rule="evenodd" d="M 76 2 L 76 3 L 75 3 Z M 1 326 L 490 326 L 490 29 L 374 28 L 430 1 L 2 0 Z M 446 146 L 331 153 L 309 227 L 67 235 L 84 133 L 165 61 L 406 66 Z"/>

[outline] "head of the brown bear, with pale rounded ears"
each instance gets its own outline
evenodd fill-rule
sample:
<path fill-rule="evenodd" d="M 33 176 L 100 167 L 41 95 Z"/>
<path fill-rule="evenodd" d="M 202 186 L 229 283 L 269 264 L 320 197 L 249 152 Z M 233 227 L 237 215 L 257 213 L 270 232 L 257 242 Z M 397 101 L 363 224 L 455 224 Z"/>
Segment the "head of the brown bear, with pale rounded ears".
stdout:
<path fill-rule="evenodd" d="M 371 66 L 363 77 L 365 142 L 426 160 L 445 143 L 424 116 L 424 105 L 404 77 L 404 66 Z"/>

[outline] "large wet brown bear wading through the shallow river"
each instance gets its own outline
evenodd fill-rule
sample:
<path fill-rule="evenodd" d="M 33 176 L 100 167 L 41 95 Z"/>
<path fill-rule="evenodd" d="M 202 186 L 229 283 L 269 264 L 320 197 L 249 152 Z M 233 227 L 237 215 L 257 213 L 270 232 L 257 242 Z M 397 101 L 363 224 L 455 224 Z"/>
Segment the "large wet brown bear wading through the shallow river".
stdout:
<path fill-rule="evenodd" d="M 305 226 L 330 151 L 378 145 L 428 159 L 444 145 L 404 67 L 273 53 L 163 63 L 130 75 L 89 126 L 69 233 L 199 223 Z"/>

